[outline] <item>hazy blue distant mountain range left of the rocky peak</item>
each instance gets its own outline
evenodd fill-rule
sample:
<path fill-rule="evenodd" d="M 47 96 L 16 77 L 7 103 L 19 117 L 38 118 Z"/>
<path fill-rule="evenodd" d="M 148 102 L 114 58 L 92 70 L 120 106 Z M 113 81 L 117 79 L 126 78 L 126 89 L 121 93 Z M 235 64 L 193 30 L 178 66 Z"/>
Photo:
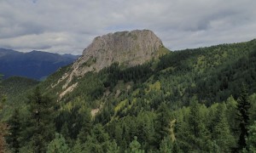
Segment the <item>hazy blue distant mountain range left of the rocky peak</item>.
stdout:
<path fill-rule="evenodd" d="M 0 48 L 0 74 L 4 78 L 20 76 L 40 80 L 78 58 L 79 55 L 73 54 L 53 54 L 36 50 L 22 53 Z"/>

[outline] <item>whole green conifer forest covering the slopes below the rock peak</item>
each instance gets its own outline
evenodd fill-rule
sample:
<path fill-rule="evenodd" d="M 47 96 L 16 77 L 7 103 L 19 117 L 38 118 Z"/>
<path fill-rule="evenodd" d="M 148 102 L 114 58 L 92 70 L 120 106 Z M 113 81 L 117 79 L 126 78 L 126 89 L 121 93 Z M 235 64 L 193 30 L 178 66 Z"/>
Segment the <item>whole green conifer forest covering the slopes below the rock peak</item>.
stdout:
<path fill-rule="evenodd" d="M 113 63 L 60 98 L 63 83 L 52 85 L 70 69 L 2 80 L 1 150 L 256 152 L 256 40 Z"/>

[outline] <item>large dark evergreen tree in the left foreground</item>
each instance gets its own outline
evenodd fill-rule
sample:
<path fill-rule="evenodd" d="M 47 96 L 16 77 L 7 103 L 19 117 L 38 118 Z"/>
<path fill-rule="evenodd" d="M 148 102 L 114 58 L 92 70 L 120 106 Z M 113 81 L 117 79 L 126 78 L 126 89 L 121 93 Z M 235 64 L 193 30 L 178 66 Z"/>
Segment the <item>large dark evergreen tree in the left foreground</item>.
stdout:
<path fill-rule="evenodd" d="M 46 144 L 54 138 L 55 103 L 35 88 L 28 97 L 30 116 L 23 133 L 23 141 L 30 140 L 36 153 L 45 152 Z"/>

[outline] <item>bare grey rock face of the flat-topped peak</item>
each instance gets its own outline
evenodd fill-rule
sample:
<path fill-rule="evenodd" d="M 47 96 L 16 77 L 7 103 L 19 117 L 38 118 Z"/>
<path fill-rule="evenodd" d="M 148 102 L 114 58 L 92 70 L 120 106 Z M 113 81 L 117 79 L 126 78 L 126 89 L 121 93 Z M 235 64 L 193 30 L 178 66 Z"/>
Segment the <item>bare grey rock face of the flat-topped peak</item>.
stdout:
<path fill-rule="evenodd" d="M 83 55 L 74 62 L 72 71 L 64 77 L 68 79 L 63 88 L 67 88 L 73 76 L 83 76 L 88 71 L 100 71 L 114 62 L 128 67 L 141 65 L 158 57 L 158 51 L 162 47 L 160 38 L 148 30 L 120 31 L 96 37 L 84 49 Z"/>

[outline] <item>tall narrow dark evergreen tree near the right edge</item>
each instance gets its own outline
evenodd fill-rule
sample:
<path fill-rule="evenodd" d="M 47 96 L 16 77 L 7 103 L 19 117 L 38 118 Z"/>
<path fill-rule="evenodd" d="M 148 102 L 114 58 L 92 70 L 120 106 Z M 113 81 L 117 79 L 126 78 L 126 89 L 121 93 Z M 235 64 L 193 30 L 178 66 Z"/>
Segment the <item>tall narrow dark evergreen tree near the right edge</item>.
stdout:
<path fill-rule="evenodd" d="M 247 88 L 244 84 L 241 87 L 241 94 L 237 100 L 237 110 L 239 113 L 237 114 L 237 120 L 239 122 L 239 140 L 238 140 L 238 150 L 242 150 L 246 147 L 246 138 L 248 136 L 248 122 L 249 122 L 249 108 L 250 103 L 248 101 Z"/>

